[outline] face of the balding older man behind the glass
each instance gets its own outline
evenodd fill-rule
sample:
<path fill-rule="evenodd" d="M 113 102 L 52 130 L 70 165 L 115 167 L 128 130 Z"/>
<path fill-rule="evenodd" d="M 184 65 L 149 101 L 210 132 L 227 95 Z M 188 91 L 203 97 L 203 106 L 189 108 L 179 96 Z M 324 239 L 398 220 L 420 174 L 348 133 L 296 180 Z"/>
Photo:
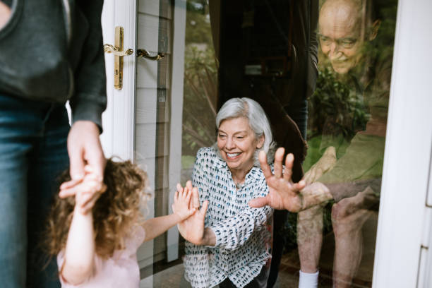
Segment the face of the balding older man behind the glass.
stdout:
<path fill-rule="evenodd" d="M 361 58 L 361 17 L 350 7 L 324 7 L 320 11 L 320 47 L 337 73 L 348 73 Z"/>

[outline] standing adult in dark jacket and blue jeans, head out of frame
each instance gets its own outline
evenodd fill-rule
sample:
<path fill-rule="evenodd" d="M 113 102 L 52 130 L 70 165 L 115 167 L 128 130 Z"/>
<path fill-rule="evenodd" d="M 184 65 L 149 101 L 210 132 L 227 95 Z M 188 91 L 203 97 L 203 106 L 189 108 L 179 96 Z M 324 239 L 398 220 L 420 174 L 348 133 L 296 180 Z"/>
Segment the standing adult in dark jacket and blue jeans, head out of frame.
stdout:
<path fill-rule="evenodd" d="M 85 164 L 103 190 L 101 114 L 106 106 L 102 1 L 0 1 L 0 282 L 59 287 L 55 260 L 37 248 L 56 176 L 70 159 L 73 194 Z M 68 124 L 65 103 L 72 110 Z"/>

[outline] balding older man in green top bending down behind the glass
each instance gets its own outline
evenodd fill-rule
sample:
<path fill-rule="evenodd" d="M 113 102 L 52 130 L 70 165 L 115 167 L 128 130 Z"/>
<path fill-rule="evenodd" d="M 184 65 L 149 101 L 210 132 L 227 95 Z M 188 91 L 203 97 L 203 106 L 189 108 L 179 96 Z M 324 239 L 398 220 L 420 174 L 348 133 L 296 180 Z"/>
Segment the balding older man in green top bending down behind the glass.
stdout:
<path fill-rule="evenodd" d="M 371 41 L 380 25 L 373 12 L 368 1 L 361 4 L 352 0 L 328 0 L 321 7 L 319 16 L 323 54 L 334 71 L 347 76 L 346 79 L 356 87 L 371 114 L 366 129 L 356 134 L 346 154 L 337 162 L 334 152 L 325 155 L 327 159 L 320 160 L 320 164 L 311 169 L 309 174 L 314 176 L 305 177 L 306 184 L 315 183 L 301 192 L 306 200 L 302 209 L 330 199 L 337 202 L 332 206 L 336 242 L 334 287 L 350 286 L 361 260 L 361 227 L 371 214 L 369 209 L 376 206 L 379 199 L 391 61 L 373 50 Z M 318 205 L 299 213 L 299 287 L 316 287 L 317 284 L 322 212 Z M 306 280 L 302 281 L 302 277 Z"/>

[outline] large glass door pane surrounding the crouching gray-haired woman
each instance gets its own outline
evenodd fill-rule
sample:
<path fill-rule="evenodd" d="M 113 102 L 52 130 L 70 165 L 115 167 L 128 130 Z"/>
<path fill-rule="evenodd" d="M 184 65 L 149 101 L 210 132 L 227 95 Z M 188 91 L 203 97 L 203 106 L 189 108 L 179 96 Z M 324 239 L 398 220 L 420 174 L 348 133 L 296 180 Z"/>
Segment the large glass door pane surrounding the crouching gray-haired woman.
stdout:
<path fill-rule="evenodd" d="M 182 110 L 176 175 L 181 184 L 193 178 L 198 150 L 215 144 L 216 114 L 234 97 L 263 107 L 277 146 L 294 154 L 292 179 L 307 184 L 301 191 L 304 210 L 277 210 L 268 217 L 272 258 L 258 269 L 268 273 L 268 287 L 299 287 L 299 280 L 318 287 L 371 287 L 396 13 L 397 0 L 186 1 L 183 105 L 164 108 Z M 173 144 L 167 128 L 158 131 Z M 240 197 L 238 191 L 227 193 Z M 170 211 L 167 200 L 161 201 L 164 210 L 155 216 Z M 223 217 L 238 220 L 236 229 L 248 225 L 236 212 Z M 153 271 L 154 287 L 189 287 L 185 245 L 180 236 L 179 260 Z M 208 248 L 205 263 L 220 265 L 215 258 L 223 255 L 227 265 L 216 282 L 212 273 L 220 270 L 209 270 L 210 283 L 227 275 L 237 283 L 236 272 L 258 261 L 251 256 L 242 266 L 234 259 L 240 265 L 235 268 L 229 257 L 241 245 L 215 248 L 220 252 Z"/>

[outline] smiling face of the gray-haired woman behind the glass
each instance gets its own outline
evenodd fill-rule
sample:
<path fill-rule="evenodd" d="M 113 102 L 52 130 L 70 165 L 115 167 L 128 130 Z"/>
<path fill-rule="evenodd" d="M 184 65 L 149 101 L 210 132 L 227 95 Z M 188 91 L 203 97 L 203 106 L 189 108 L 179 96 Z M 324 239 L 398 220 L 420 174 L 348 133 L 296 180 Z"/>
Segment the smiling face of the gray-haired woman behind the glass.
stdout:
<path fill-rule="evenodd" d="M 217 148 L 231 171 L 248 172 L 253 167 L 253 153 L 263 143 L 264 137 L 256 139 L 244 117 L 225 119 L 217 131 Z"/>

